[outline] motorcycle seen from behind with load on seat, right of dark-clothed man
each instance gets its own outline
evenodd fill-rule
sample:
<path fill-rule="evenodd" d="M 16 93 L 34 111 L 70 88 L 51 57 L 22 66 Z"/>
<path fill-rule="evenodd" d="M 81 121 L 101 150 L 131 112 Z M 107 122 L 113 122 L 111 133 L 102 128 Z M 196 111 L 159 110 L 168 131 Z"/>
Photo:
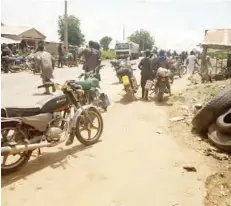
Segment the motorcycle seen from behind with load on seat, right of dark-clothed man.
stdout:
<path fill-rule="evenodd" d="M 163 100 L 164 94 L 170 94 L 169 84 L 169 71 L 165 68 L 159 68 L 157 70 L 156 80 L 147 80 L 145 84 L 145 92 L 153 90 L 158 101 Z"/>

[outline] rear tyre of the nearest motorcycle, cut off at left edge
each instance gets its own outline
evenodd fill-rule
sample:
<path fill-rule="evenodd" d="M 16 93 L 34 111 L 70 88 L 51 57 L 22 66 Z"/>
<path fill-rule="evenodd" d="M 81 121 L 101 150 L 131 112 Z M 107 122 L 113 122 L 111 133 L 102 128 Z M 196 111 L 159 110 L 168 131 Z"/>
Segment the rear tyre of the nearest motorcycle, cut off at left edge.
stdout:
<path fill-rule="evenodd" d="M 2 128 L 1 128 L 1 132 L 2 132 L 1 147 L 8 146 L 8 144 L 7 144 L 8 141 L 7 141 L 7 138 L 4 134 L 7 135 L 7 133 L 10 130 L 15 130 L 16 124 L 14 122 L 8 122 L 6 124 L 2 124 L 1 126 L 2 126 Z M 22 135 L 24 135 L 24 134 L 22 133 Z M 21 167 L 23 167 L 29 161 L 31 154 L 32 154 L 32 151 L 21 152 L 20 158 L 16 162 L 11 163 L 10 165 L 6 165 L 5 164 L 6 162 L 4 161 L 4 159 L 8 158 L 8 156 L 10 156 L 10 155 L 2 156 L 3 157 L 3 161 L 1 163 L 2 175 L 8 175 L 10 173 L 18 171 Z"/>

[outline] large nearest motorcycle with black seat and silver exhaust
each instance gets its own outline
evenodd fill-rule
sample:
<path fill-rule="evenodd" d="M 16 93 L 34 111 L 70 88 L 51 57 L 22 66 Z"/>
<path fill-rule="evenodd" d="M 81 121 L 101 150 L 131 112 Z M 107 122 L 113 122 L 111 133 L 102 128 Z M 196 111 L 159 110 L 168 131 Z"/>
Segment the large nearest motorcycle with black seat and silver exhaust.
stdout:
<path fill-rule="evenodd" d="M 93 105 L 80 104 L 79 98 L 83 95 L 81 86 L 66 81 L 61 90 L 63 94 L 46 98 L 34 107 L 1 109 L 3 175 L 15 172 L 25 165 L 34 150 L 38 149 L 40 153 L 40 148 L 53 147 L 65 142 L 68 133 L 75 134 L 86 146 L 99 140 L 103 132 L 103 119 Z M 87 138 L 82 133 L 84 131 L 87 131 Z M 94 131 L 95 135 L 92 138 Z M 19 159 L 6 164 L 11 154 L 19 155 Z"/>

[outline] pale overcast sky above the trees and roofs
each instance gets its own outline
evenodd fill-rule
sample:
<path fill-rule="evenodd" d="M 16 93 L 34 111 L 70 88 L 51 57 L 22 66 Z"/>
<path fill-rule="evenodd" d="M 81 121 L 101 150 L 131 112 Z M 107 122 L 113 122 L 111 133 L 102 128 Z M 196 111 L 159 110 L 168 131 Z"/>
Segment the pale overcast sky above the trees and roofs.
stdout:
<path fill-rule="evenodd" d="M 57 19 L 64 0 L 1 0 L 1 22 L 34 27 L 58 41 Z M 137 29 L 146 29 L 156 46 L 191 50 L 205 29 L 231 29 L 231 0 L 68 0 L 68 14 L 81 21 L 86 40 L 111 36 L 112 45 Z"/>

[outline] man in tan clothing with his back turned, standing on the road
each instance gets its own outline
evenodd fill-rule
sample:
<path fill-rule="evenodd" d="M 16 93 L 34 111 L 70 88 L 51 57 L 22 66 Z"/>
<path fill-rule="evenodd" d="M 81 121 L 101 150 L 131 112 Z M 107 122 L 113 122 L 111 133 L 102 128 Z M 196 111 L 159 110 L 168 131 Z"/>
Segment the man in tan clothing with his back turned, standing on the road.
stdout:
<path fill-rule="evenodd" d="M 35 64 L 36 67 L 39 67 L 41 70 L 42 83 L 51 82 L 55 67 L 55 59 L 50 53 L 44 51 L 44 42 L 42 41 L 38 43 Z M 52 86 L 52 91 L 55 92 L 54 85 Z M 49 87 L 45 87 L 45 94 L 50 94 Z"/>

